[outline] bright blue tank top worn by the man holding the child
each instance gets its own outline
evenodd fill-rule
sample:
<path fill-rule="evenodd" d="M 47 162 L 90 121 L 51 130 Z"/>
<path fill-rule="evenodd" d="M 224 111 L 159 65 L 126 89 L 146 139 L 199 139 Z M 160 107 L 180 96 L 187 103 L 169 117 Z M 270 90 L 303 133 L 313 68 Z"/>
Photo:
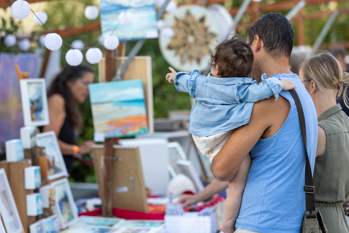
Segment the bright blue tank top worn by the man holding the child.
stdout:
<path fill-rule="evenodd" d="M 316 110 L 296 74 L 273 75 L 296 84 L 302 103 L 307 150 L 312 171 L 318 138 Z M 251 168 L 235 227 L 262 233 L 299 233 L 305 211 L 303 192 L 305 148 L 295 101 L 288 91 L 280 93 L 291 104 L 289 115 L 273 136 L 259 139 L 251 151 Z"/>

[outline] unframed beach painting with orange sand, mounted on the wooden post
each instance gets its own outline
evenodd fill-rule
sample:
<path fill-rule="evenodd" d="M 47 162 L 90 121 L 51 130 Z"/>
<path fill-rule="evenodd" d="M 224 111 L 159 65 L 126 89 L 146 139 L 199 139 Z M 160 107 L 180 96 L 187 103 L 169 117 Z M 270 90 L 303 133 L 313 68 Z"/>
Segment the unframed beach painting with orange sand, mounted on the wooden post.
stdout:
<path fill-rule="evenodd" d="M 141 79 L 93 83 L 89 90 L 95 132 L 105 138 L 148 133 Z"/>

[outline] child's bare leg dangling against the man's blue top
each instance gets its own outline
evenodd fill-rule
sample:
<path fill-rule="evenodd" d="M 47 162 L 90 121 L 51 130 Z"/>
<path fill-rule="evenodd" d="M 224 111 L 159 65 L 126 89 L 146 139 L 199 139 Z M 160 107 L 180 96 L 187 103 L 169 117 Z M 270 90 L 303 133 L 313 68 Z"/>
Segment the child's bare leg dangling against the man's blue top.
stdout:
<path fill-rule="evenodd" d="M 224 220 L 220 226 L 224 233 L 233 233 L 235 231 L 234 225 L 240 211 L 242 195 L 244 194 L 250 166 L 251 156 L 248 154 L 240 165 L 234 179 L 229 181 L 229 193 L 225 201 Z"/>

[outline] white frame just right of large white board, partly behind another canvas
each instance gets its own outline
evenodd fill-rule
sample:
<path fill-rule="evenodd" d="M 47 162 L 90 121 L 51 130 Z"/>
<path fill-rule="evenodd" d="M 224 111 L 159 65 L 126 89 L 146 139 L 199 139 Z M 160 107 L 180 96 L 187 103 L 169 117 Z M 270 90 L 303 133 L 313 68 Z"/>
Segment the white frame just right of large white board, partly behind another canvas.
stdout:
<path fill-rule="evenodd" d="M 181 174 L 181 170 L 178 168 L 176 161 L 177 160 L 187 160 L 187 156 L 185 155 L 182 147 L 179 145 L 177 141 L 173 141 L 167 144 L 169 148 L 169 165 L 167 166 L 169 172 L 172 177 Z"/>

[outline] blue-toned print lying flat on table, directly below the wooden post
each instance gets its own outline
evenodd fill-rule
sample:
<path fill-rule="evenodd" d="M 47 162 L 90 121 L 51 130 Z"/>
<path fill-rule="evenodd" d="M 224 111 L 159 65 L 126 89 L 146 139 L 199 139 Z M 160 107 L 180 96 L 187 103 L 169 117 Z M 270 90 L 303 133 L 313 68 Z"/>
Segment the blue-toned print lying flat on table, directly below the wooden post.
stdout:
<path fill-rule="evenodd" d="M 76 226 L 101 226 L 118 228 L 120 225 L 126 222 L 123 218 L 106 218 L 106 217 L 94 217 L 94 216 L 81 216 L 74 225 Z"/>

